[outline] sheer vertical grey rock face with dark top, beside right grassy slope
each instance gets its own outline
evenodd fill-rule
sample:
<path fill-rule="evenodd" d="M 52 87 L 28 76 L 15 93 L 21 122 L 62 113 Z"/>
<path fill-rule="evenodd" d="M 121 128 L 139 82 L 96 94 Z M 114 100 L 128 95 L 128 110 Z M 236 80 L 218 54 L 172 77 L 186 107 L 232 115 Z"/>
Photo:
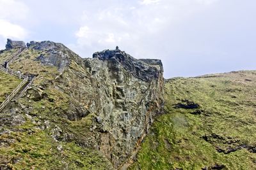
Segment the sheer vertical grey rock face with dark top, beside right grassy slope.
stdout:
<path fill-rule="evenodd" d="M 154 116 L 161 113 L 161 61 L 137 60 L 120 50 L 104 50 L 84 63 L 99 82 L 99 97 L 90 110 L 101 120 L 100 150 L 119 167 L 134 146 L 140 145 Z"/>

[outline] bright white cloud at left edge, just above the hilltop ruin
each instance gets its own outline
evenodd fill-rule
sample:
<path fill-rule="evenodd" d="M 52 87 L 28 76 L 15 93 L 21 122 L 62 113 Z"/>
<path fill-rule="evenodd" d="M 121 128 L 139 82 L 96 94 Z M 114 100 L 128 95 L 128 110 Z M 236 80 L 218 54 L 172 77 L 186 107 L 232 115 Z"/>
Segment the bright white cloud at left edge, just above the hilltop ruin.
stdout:
<path fill-rule="evenodd" d="M 0 19 L 0 35 L 3 38 L 24 39 L 28 35 L 28 32 L 20 25 Z"/>

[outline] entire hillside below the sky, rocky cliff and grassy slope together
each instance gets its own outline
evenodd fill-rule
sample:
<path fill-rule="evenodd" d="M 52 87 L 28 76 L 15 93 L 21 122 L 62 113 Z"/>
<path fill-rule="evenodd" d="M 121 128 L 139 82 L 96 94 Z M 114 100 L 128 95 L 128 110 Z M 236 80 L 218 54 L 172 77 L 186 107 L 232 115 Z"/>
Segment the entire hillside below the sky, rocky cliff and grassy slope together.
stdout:
<path fill-rule="evenodd" d="M 256 71 L 164 80 L 118 47 L 11 39 L 1 63 L 19 49 L 8 69 L 35 81 L 0 113 L 0 170 L 256 169 Z M 3 70 L 0 103 L 22 81 Z"/>

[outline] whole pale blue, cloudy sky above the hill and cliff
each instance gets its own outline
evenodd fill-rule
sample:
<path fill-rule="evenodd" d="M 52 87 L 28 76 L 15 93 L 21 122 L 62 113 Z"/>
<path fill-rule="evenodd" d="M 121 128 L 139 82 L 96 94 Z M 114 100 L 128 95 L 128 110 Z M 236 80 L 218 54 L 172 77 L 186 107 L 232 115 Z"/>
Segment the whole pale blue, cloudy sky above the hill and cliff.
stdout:
<path fill-rule="evenodd" d="M 255 0 L 0 0 L 6 39 L 161 59 L 164 78 L 256 69 Z"/>

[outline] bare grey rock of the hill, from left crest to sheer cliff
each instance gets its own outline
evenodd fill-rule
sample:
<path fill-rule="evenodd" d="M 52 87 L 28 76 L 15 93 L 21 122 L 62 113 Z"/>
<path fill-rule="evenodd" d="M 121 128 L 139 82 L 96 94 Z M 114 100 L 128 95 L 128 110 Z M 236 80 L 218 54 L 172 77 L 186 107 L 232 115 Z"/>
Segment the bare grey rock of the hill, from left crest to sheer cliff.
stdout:
<path fill-rule="evenodd" d="M 56 66 L 60 71 L 60 76 L 44 89 L 28 90 L 28 97 L 33 100 L 30 103 L 46 100 L 43 92 L 50 88 L 57 90 L 68 96 L 65 108 L 58 108 L 58 116 L 71 121 L 84 118 L 81 123 L 86 124 L 84 135 L 80 136 L 58 122 L 51 121 L 50 126 L 49 121 L 43 120 L 52 138 L 99 149 L 115 168 L 127 162 L 145 138 L 154 117 L 163 110 L 161 60 L 134 59 L 119 49 L 104 50 L 94 53 L 91 59 L 81 59 L 67 47 L 51 41 L 31 42 L 28 47 L 38 50 L 36 60 L 41 64 Z M 28 108 L 27 104 L 26 110 Z M 49 117 L 51 114 L 49 111 Z"/>

